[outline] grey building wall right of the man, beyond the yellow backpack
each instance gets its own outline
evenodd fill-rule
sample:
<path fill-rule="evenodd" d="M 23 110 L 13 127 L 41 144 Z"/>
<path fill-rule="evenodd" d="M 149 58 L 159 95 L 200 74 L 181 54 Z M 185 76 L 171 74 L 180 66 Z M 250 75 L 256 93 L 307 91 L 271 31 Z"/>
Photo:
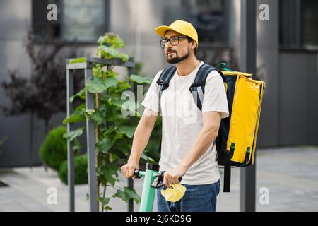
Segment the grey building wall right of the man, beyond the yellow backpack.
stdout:
<path fill-rule="evenodd" d="M 269 5 L 269 21 L 259 20 L 259 5 Z M 230 38 L 240 53 L 240 3 L 232 2 Z M 257 1 L 257 76 L 266 82 L 257 145 L 318 143 L 317 52 L 284 52 L 279 46 L 276 0 Z"/>

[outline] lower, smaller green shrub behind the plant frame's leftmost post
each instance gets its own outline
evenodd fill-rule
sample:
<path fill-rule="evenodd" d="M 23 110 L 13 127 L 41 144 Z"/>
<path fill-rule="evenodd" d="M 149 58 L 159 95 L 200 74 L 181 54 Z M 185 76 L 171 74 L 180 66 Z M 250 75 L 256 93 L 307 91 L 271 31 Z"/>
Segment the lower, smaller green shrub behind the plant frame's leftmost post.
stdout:
<path fill-rule="evenodd" d="M 64 161 L 59 169 L 59 179 L 64 184 L 67 184 L 67 172 L 68 164 L 67 160 Z M 87 184 L 87 155 L 79 155 L 74 157 L 74 183 L 75 184 Z"/>

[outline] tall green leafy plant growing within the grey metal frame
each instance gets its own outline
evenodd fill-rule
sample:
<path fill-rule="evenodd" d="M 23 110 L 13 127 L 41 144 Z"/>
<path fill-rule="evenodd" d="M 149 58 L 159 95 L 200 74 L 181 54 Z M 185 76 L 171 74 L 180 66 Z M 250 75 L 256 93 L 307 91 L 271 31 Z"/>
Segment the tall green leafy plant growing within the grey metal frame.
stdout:
<path fill-rule="evenodd" d="M 129 57 L 119 52 L 119 48 L 124 48 L 124 41 L 119 35 L 107 33 L 98 39 L 97 56 L 105 59 L 128 61 Z M 71 60 L 69 64 L 81 62 L 82 60 L 83 58 Z M 85 92 L 88 91 L 95 95 L 95 102 L 97 103 L 95 109 L 87 111 L 85 105 L 79 105 L 73 114 L 66 117 L 63 121 L 64 124 L 68 124 L 88 119 L 93 121 L 96 126 L 96 174 L 98 184 L 104 188 L 102 192 L 98 191 L 98 201 L 102 204 L 102 210 L 112 210 L 109 206 L 111 198 L 121 198 L 126 202 L 134 199 L 136 203 L 140 202 L 140 197 L 134 189 L 126 186 L 117 186 L 116 184 L 119 177 L 119 167 L 126 163 L 127 155 L 129 155 L 131 150 L 134 130 L 141 117 L 136 111 L 140 103 L 136 100 L 123 100 L 122 97 L 129 97 L 129 95 L 125 96 L 123 94 L 125 91 L 131 90 L 131 83 L 148 85 L 151 83 L 151 79 L 134 74 L 127 76 L 124 80 L 119 80 L 118 76 L 118 73 L 113 71 L 113 66 L 94 64 L 92 80 L 76 95 L 73 95 L 69 101 L 73 102 L 77 98 L 85 99 Z M 122 114 L 122 109 L 126 110 L 130 116 Z M 74 138 L 83 133 L 84 129 L 80 128 L 65 133 L 64 138 L 73 141 Z M 142 159 L 147 162 L 155 162 L 146 154 L 142 156 Z M 114 194 L 110 197 L 105 196 L 107 186 L 115 189 Z"/>

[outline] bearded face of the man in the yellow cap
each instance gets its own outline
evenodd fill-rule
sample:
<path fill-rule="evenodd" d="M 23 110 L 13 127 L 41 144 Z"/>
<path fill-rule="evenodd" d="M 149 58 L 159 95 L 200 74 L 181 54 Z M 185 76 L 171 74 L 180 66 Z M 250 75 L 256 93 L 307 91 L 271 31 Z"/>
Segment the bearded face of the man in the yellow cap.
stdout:
<path fill-rule="evenodd" d="M 167 62 L 169 64 L 177 64 L 184 59 L 187 59 L 190 54 L 189 41 L 185 36 L 175 32 L 174 30 L 169 30 L 165 33 L 165 39 L 168 40 L 171 37 L 182 37 L 179 38 L 179 44 L 172 45 L 170 42 L 165 44 L 165 56 L 167 57 Z"/>

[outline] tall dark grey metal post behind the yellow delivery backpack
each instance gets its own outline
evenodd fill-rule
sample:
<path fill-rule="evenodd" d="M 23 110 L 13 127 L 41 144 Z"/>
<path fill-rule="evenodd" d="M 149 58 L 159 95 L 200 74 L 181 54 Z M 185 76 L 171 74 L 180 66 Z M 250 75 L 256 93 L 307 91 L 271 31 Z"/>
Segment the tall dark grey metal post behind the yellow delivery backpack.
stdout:
<path fill-rule="evenodd" d="M 240 71 L 256 73 L 256 1 L 241 0 Z M 256 159 L 256 155 L 255 155 Z M 255 164 L 240 171 L 240 211 L 255 211 Z"/>

